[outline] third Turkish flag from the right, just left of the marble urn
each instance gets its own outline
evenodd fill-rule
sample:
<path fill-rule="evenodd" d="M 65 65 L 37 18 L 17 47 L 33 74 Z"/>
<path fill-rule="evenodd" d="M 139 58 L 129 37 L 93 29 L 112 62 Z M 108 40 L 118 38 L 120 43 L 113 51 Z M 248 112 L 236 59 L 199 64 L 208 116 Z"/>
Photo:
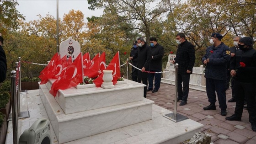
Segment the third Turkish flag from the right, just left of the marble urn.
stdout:
<path fill-rule="evenodd" d="M 88 69 L 86 68 L 84 71 L 84 76 L 88 76 L 89 78 L 95 78 L 96 76 L 98 76 L 98 71 L 100 67 L 99 55 L 100 53 L 96 54 L 96 56 L 91 60 Z"/>

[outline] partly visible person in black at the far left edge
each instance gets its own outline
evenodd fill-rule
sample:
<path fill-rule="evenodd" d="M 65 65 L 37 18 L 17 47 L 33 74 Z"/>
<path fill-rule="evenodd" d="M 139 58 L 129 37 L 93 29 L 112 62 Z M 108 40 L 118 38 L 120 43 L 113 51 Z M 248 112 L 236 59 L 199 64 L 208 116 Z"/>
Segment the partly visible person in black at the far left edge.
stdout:
<path fill-rule="evenodd" d="M 0 82 L 3 82 L 6 78 L 6 55 L 5 51 L 2 47 L 2 44 L 4 42 L 4 38 L 2 37 L 2 34 L 0 33 Z"/>

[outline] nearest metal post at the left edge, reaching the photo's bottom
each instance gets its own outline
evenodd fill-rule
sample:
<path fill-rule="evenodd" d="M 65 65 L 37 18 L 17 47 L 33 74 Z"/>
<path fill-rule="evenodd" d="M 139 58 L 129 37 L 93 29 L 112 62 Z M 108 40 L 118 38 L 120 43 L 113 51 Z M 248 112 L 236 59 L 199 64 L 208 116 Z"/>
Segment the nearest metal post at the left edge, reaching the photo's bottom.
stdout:
<path fill-rule="evenodd" d="M 17 113 L 17 97 L 16 97 L 16 71 L 11 71 L 11 105 L 12 105 L 12 134 L 13 144 L 18 144 L 18 113 Z"/>

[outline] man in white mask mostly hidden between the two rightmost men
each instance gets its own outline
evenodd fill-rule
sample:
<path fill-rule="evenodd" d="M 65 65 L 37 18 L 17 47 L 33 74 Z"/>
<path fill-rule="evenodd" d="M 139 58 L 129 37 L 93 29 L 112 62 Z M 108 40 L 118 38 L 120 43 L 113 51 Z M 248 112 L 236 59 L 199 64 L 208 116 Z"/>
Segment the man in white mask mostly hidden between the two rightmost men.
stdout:
<path fill-rule="evenodd" d="M 235 53 L 239 50 L 239 47 L 238 47 L 238 42 L 239 40 L 241 39 L 240 36 L 235 36 L 233 38 L 233 44 L 234 44 L 234 47 L 231 47 L 230 48 L 230 60 L 229 62 L 231 63 L 233 60 L 235 60 Z M 228 71 L 228 75 L 230 75 L 230 68 L 229 68 L 229 71 Z M 231 92 L 232 92 L 232 98 L 228 101 L 228 102 L 235 102 L 235 90 L 234 90 L 234 80 L 231 81 Z"/>

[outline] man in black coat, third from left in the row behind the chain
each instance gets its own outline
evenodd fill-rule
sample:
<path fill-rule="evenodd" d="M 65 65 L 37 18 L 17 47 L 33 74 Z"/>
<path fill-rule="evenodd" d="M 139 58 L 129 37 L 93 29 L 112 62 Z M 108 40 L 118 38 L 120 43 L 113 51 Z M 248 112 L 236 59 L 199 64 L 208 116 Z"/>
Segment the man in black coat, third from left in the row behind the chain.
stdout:
<path fill-rule="evenodd" d="M 157 43 L 155 37 L 149 38 L 150 48 L 152 52 L 152 59 L 149 65 L 149 71 L 151 72 L 160 72 L 162 71 L 162 58 L 164 57 L 164 48 Z M 161 73 L 149 73 L 149 88 L 147 91 L 153 90 L 153 80 L 155 77 L 155 88 L 152 92 L 157 92 L 160 88 L 161 82 Z"/>

